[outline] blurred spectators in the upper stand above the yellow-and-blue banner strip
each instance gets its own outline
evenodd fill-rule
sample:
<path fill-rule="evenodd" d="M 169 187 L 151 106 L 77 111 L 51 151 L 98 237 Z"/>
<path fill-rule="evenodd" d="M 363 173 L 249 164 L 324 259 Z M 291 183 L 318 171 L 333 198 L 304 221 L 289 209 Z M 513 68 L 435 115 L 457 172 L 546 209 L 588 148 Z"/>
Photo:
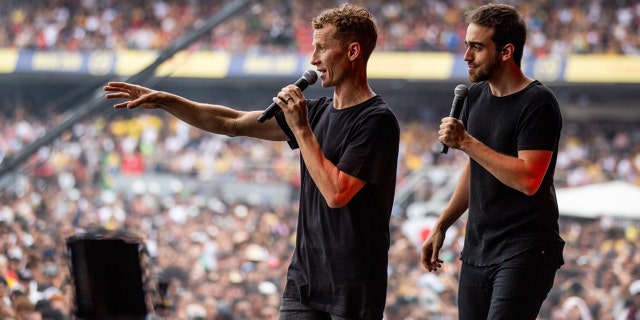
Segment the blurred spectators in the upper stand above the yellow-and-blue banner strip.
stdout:
<path fill-rule="evenodd" d="M 160 50 L 197 29 L 228 1 L 8 1 L 0 6 L 0 47 L 33 50 Z M 353 1 L 369 8 L 381 51 L 464 49 L 463 13 L 484 1 Z M 640 2 L 509 0 L 530 28 L 527 54 L 640 53 Z M 309 21 L 338 1 L 256 1 L 193 45 L 233 53 L 311 49 Z"/>

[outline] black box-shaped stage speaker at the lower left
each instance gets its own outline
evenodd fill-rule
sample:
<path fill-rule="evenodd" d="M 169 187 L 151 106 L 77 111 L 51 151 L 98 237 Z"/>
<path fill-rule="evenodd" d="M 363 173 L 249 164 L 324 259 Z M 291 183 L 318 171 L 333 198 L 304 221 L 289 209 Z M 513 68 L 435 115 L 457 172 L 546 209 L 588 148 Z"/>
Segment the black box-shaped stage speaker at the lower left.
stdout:
<path fill-rule="evenodd" d="M 78 318 L 146 318 L 148 310 L 138 243 L 122 239 L 70 237 L 67 249 Z"/>

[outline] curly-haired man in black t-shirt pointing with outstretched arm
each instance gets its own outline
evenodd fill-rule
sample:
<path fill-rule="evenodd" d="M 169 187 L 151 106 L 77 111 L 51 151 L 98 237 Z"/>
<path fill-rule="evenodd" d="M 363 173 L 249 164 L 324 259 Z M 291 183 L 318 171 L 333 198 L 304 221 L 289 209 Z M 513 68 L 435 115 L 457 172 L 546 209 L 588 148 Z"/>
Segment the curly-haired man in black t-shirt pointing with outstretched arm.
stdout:
<path fill-rule="evenodd" d="M 243 112 L 138 85 L 111 82 L 115 108 L 158 108 L 217 134 L 288 141 L 301 154 L 296 247 L 280 319 L 382 319 L 389 220 L 400 129 L 369 87 L 367 62 L 377 29 L 371 14 L 343 4 L 312 21 L 311 64 L 333 97 L 306 99 L 289 85 L 273 98 L 281 111 L 264 122 Z"/>

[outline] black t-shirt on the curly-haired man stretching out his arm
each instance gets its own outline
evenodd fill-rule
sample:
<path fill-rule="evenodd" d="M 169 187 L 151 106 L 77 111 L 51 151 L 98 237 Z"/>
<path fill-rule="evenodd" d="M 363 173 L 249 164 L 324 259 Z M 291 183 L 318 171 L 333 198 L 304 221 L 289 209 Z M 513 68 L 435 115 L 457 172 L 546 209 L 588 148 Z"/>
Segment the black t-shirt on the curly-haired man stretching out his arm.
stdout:
<path fill-rule="evenodd" d="M 400 140 L 397 119 L 380 96 L 341 110 L 333 108 L 331 98 L 307 104 L 325 157 L 366 184 L 344 207 L 329 208 L 301 161 L 296 247 L 284 296 L 343 317 L 382 319 Z M 276 119 L 289 145 L 297 148 L 284 115 Z"/>

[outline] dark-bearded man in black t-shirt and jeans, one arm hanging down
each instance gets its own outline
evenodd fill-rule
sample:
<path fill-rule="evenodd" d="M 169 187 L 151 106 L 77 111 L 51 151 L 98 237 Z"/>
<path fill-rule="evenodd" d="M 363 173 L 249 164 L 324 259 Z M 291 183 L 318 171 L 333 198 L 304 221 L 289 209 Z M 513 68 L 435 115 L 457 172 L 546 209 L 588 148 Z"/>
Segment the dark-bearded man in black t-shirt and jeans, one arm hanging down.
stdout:
<path fill-rule="evenodd" d="M 521 70 L 526 26 L 511 6 L 467 14 L 469 89 L 460 120 L 439 140 L 469 156 L 454 194 L 422 245 L 441 267 L 446 230 L 468 209 L 458 290 L 460 319 L 536 319 L 563 264 L 553 185 L 562 129 L 553 93 Z"/>

